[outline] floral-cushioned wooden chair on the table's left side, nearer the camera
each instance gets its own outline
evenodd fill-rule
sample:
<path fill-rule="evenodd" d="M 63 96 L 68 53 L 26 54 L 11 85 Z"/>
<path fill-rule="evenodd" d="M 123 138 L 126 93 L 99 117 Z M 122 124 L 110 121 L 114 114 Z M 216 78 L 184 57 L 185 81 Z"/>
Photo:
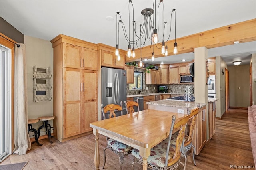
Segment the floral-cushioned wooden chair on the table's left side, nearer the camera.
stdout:
<path fill-rule="evenodd" d="M 121 105 L 109 104 L 109 105 L 106 105 L 105 107 L 102 106 L 103 118 L 106 119 L 106 113 L 109 113 L 109 118 L 116 117 L 115 110 L 121 111 L 121 115 L 123 115 L 122 101 L 120 104 Z M 106 163 L 106 149 L 107 148 L 109 148 L 112 152 L 119 155 L 120 169 L 123 170 L 124 169 L 124 156 L 130 154 L 132 152 L 133 148 L 131 146 L 128 146 L 128 145 L 118 142 L 112 138 L 107 137 L 107 147 L 104 148 L 104 150 L 103 150 L 104 164 L 103 164 L 102 169 L 104 169 L 105 163 Z"/>

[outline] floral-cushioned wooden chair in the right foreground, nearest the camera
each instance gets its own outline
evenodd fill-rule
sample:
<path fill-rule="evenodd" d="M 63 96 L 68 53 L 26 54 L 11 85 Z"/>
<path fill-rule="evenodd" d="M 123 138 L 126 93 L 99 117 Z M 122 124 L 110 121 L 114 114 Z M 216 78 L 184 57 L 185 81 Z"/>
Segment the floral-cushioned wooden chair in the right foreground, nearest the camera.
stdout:
<path fill-rule="evenodd" d="M 176 120 L 176 115 L 172 116 L 172 123 L 170 128 L 170 134 L 166 140 L 163 140 L 150 150 L 150 156 L 148 157 L 148 168 L 157 170 L 167 170 L 167 169 L 177 169 L 180 164 L 181 158 L 181 147 L 184 142 L 185 129 L 188 123 L 189 115 L 181 117 Z M 172 133 L 178 131 L 178 136 L 176 137 L 176 145 L 171 146 L 170 141 L 172 138 Z M 132 169 L 134 164 L 137 162 L 142 165 L 142 157 L 139 155 L 140 150 L 132 150 L 132 155 L 134 156 L 134 161 L 132 162 Z"/>

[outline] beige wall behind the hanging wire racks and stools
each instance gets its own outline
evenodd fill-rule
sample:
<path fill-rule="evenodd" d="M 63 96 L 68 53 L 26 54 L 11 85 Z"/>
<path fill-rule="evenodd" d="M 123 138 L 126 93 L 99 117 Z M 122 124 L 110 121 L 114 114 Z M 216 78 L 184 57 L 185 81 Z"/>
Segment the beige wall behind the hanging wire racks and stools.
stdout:
<path fill-rule="evenodd" d="M 53 68 L 53 48 L 50 41 L 24 36 L 25 56 L 27 67 L 27 94 L 28 94 L 28 119 L 41 116 L 53 115 L 53 102 L 33 102 L 33 66 Z M 50 79 L 52 83 L 53 77 Z M 52 95 L 52 90 L 50 94 Z M 53 125 L 53 121 L 49 121 Z M 42 122 L 33 124 L 33 128 L 38 129 Z M 41 133 L 43 135 L 44 133 Z"/>

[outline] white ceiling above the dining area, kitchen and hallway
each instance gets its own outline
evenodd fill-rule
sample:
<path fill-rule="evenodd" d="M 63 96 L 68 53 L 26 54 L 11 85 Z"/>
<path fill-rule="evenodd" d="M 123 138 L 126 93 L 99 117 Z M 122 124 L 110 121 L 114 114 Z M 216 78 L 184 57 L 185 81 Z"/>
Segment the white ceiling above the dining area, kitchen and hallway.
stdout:
<path fill-rule="evenodd" d="M 128 4 L 128 0 L 0 0 L 0 16 L 26 36 L 50 41 L 64 34 L 114 47 L 116 12 L 120 12 L 128 30 Z M 141 10 L 152 8 L 153 0 L 133 0 L 133 5 L 138 26 L 144 19 Z M 176 38 L 256 18 L 256 0 L 164 0 L 164 21 L 170 23 L 173 8 Z M 106 20 L 108 16 L 113 20 Z M 174 39 L 173 33 L 170 39 Z M 127 45 L 121 33 L 120 49 L 126 50 Z M 209 57 L 221 56 L 228 65 L 236 60 L 248 64 L 252 53 L 256 53 L 255 41 L 208 50 Z M 160 57 L 148 63 L 177 63 L 182 59 L 191 61 L 194 53 Z"/>

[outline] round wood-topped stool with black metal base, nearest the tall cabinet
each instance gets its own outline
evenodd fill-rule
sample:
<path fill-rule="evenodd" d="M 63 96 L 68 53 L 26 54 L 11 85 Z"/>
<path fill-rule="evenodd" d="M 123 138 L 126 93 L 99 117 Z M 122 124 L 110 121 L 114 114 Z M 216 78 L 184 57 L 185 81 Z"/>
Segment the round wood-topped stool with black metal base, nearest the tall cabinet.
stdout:
<path fill-rule="evenodd" d="M 51 140 L 51 137 L 53 137 L 51 135 L 51 130 L 54 130 L 54 127 L 51 127 L 51 125 L 49 124 L 49 120 L 52 120 L 54 118 L 55 118 L 55 116 L 43 116 L 43 117 L 37 118 L 39 121 L 43 121 L 43 125 L 38 128 L 38 139 L 40 136 L 41 129 L 45 128 L 45 131 L 44 131 L 45 134 L 47 134 L 47 132 L 48 132 L 49 141 L 50 141 L 50 143 L 53 143 Z"/>

